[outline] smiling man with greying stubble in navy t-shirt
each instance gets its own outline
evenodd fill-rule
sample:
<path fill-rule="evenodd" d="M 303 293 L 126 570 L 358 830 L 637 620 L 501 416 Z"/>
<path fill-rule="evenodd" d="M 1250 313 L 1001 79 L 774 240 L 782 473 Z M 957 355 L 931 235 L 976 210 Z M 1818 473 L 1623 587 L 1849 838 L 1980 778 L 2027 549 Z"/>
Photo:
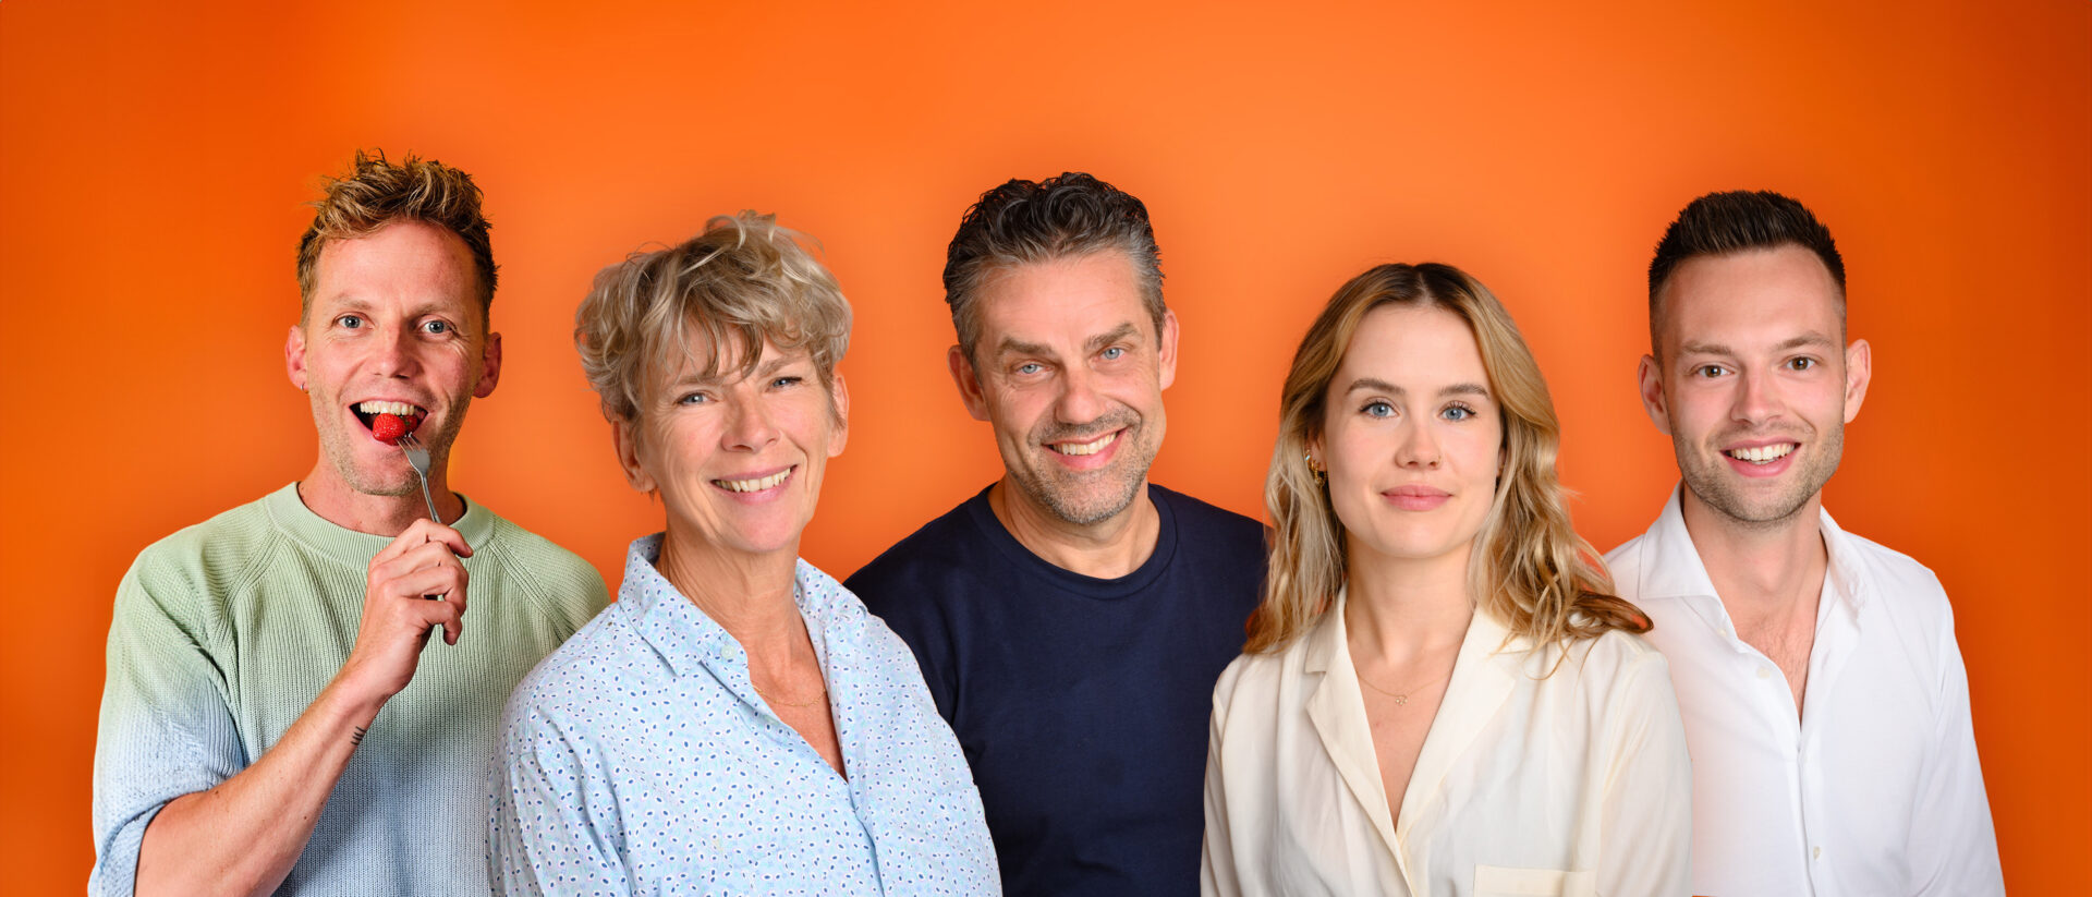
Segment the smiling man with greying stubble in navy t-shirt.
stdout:
<path fill-rule="evenodd" d="M 1004 477 L 845 583 L 923 665 L 1010 895 L 1192 895 L 1213 680 L 1264 527 L 1149 483 L 1176 376 L 1146 207 L 1010 180 L 943 270 L 960 401 Z"/>

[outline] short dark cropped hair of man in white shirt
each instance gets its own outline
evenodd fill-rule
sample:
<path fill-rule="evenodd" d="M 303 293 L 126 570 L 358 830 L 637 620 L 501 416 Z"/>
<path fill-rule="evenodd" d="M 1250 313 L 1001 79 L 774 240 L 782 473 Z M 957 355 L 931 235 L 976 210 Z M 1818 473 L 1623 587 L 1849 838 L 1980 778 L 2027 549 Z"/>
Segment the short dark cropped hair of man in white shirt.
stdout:
<path fill-rule="evenodd" d="M 1749 249 L 1795 245 L 1816 253 L 1830 280 L 1837 282 L 1837 322 L 1845 326 L 1845 259 L 1837 253 L 1830 228 L 1810 209 L 1772 190 L 1709 192 L 1686 205 L 1678 220 L 1657 240 L 1657 257 L 1648 261 L 1648 349 L 1663 351 L 1663 284 L 1678 266 L 1701 255 L 1730 255 Z"/>

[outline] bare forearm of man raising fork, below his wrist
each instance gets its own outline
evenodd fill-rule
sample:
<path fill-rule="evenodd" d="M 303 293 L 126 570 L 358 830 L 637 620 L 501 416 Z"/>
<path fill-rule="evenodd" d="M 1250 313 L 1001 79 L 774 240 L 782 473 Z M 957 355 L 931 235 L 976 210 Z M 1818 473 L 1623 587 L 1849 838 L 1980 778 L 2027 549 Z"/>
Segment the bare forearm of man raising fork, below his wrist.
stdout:
<path fill-rule="evenodd" d="M 383 700 L 339 682 L 251 767 L 167 801 L 138 847 L 138 895 L 268 895 L 291 874 Z"/>

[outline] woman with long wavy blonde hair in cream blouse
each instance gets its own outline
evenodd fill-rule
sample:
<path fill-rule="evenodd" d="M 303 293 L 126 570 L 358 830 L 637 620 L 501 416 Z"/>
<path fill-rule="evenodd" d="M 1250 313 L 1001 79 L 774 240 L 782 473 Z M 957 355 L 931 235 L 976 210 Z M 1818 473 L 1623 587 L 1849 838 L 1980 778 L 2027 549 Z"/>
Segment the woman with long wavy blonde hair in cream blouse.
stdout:
<path fill-rule="evenodd" d="M 1293 355 L 1249 644 L 1213 690 L 1207 895 L 1682 895 L 1648 621 L 1577 537 L 1540 366 L 1458 268 L 1379 266 Z"/>

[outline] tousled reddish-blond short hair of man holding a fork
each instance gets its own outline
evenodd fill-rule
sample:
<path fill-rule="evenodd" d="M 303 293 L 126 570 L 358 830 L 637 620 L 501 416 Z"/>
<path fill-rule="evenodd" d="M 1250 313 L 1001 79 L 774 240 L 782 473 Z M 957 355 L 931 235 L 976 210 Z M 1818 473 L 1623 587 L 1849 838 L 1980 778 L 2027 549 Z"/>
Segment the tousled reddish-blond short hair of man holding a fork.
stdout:
<path fill-rule="evenodd" d="M 473 176 L 435 159 L 414 159 L 408 153 L 397 165 L 385 161 L 385 151 L 356 151 L 349 174 L 328 178 L 316 203 L 312 228 L 297 240 L 297 318 L 312 309 L 312 289 L 318 280 L 320 251 L 335 240 L 354 240 L 379 228 L 410 220 L 458 234 L 479 272 L 479 314 L 494 305 L 494 245 L 487 240 L 487 217 L 479 211 L 479 186 Z"/>

